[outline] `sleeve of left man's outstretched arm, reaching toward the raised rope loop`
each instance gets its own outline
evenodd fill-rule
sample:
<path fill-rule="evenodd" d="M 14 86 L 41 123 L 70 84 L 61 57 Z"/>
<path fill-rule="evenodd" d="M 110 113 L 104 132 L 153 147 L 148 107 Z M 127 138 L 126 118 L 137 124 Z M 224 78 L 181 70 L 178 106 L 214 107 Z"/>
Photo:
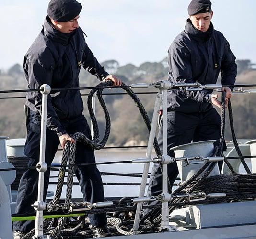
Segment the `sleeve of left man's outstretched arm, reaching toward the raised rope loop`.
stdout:
<path fill-rule="evenodd" d="M 103 80 L 109 74 L 104 70 L 104 67 L 100 65 L 98 60 L 94 57 L 92 51 L 85 43 L 85 48 L 82 56 L 82 66 L 89 73 L 97 76 L 98 79 Z"/>

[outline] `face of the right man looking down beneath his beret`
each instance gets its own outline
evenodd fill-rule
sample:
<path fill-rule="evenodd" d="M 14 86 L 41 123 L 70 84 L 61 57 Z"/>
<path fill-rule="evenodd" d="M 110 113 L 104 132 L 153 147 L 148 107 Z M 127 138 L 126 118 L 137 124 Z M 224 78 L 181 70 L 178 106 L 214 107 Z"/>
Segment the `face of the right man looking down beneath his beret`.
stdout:
<path fill-rule="evenodd" d="M 193 26 L 202 32 L 206 32 L 209 28 L 210 21 L 212 19 L 213 12 L 198 13 L 193 16 L 189 16 Z"/>

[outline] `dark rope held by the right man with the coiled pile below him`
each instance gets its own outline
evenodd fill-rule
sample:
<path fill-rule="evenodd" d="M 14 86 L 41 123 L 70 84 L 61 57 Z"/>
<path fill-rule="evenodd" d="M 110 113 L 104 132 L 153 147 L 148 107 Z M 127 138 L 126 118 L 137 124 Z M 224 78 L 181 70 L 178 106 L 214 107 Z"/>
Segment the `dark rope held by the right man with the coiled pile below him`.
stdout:
<path fill-rule="evenodd" d="M 224 131 L 225 131 L 225 92 L 222 92 L 221 99 L 221 136 L 220 136 L 220 144 L 215 148 L 212 156 L 223 156 L 223 145 L 224 145 Z M 235 149 L 240 157 L 243 157 L 234 132 L 233 127 L 233 117 L 232 117 L 232 109 L 230 99 L 228 100 L 228 109 L 229 109 L 229 118 L 230 118 L 230 127 L 232 131 L 232 137 Z M 224 159 L 224 162 L 227 164 L 229 169 L 233 174 L 225 174 L 225 175 L 217 175 L 207 177 L 209 173 L 212 171 L 216 162 L 208 162 L 205 163 L 196 174 L 194 174 L 190 179 L 188 179 L 183 185 L 180 185 L 172 195 L 176 196 L 180 193 L 196 193 L 196 192 L 205 192 L 208 193 L 218 193 L 223 192 L 226 193 L 227 196 L 225 198 L 218 198 L 213 200 L 208 200 L 208 202 L 224 202 L 229 200 L 230 198 L 235 199 L 243 199 L 250 198 L 253 199 L 255 197 L 255 189 L 256 189 L 256 174 L 250 174 L 250 169 L 244 161 L 244 158 L 241 158 L 241 162 L 244 165 L 244 168 L 248 174 L 234 174 L 234 169 L 232 165 Z M 201 173 L 204 174 L 201 177 L 198 177 Z M 240 194 L 240 192 L 246 192 L 247 195 Z M 249 193 L 251 192 L 251 193 Z M 233 193 L 233 195 L 231 195 Z M 206 203 L 206 201 L 204 201 Z M 172 203 L 169 204 L 169 213 L 171 213 L 177 204 L 185 205 L 186 199 L 184 198 L 175 198 Z M 175 206 L 174 206 L 175 205 Z M 147 206 L 149 208 L 150 206 Z M 158 207 L 158 208 L 156 208 Z M 140 228 L 139 233 L 143 233 L 150 228 L 155 228 L 157 225 L 161 223 L 161 205 L 151 206 L 152 210 L 141 218 L 140 224 L 143 225 L 143 228 Z M 148 224 L 145 224 L 145 223 Z M 132 234 L 132 225 L 133 221 L 121 222 L 117 230 L 125 235 Z"/>

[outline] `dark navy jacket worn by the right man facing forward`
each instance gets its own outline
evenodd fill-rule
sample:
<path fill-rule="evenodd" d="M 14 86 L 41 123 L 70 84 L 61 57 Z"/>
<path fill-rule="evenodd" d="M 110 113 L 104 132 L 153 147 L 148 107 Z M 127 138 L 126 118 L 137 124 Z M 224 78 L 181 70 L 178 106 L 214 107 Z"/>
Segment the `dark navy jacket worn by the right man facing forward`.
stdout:
<path fill-rule="evenodd" d="M 233 85 L 237 73 L 235 56 L 223 34 L 210 23 L 207 32 L 196 29 L 188 19 L 185 31 L 180 33 L 168 51 L 169 74 L 172 83 L 216 84 L 221 72 L 221 84 Z M 233 90 L 233 87 L 231 87 Z M 168 91 L 168 111 L 184 113 L 204 112 L 210 103 L 212 90 L 184 91 L 176 88 Z"/>

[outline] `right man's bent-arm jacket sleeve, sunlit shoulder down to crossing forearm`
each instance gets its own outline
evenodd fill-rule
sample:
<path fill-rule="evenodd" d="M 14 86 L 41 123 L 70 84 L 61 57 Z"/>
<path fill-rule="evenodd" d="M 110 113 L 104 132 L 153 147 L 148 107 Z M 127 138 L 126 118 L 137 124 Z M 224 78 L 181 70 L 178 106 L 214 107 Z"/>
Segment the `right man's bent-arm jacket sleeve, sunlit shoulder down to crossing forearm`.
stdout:
<path fill-rule="evenodd" d="M 168 80 L 172 83 L 195 83 L 192 79 L 192 64 L 189 50 L 182 42 L 174 42 L 168 50 L 169 74 Z M 176 89 L 176 95 L 191 98 L 198 102 L 211 102 L 208 90 L 185 91 L 182 87 Z"/>

